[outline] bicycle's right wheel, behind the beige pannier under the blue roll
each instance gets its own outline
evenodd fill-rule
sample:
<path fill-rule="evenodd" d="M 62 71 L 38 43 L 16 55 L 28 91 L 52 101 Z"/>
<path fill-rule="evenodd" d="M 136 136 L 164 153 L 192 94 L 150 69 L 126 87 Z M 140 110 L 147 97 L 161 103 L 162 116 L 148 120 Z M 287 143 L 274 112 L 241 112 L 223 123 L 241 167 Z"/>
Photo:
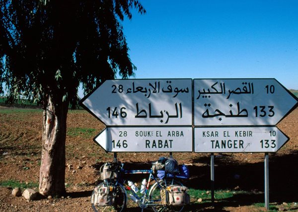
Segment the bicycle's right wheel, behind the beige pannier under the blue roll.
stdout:
<path fill-rule="evenodd" d="M 154 212 L 182 212 L 184 206 L 168 206 L 162 203 L 160 190 L 166 189 L 167 186 L 171 185 L 179 185 L 183 186 L 182 183 L 173 180 L 173 179 L 166 179 L 160 180 L 152 186 L 149 192 L 149 202 L 152 205 L 152 209 Z"/>

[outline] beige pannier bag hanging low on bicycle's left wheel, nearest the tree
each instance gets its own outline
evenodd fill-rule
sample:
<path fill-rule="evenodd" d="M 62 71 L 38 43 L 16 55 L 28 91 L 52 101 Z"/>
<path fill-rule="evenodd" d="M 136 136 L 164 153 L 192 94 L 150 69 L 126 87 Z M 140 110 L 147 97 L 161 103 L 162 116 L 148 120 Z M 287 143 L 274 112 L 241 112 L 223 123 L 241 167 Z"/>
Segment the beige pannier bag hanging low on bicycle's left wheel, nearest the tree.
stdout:
<path fill-rule="evenodd" d="M 95 206 L 111 206 L 114 204 L 113 187 L 96 187 L 91 197 Z"/>

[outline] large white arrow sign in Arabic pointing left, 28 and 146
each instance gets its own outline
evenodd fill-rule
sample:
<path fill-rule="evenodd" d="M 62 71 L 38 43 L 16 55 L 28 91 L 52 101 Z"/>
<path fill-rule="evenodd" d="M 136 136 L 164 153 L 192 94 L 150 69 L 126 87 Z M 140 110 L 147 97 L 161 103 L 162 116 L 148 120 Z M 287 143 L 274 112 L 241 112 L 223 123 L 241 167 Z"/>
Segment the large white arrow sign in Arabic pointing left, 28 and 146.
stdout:
<path fill-rule="evenodd" d="M 191 126 L 192 79 L 107 80 L 82 105 L 107 126 Z"/>

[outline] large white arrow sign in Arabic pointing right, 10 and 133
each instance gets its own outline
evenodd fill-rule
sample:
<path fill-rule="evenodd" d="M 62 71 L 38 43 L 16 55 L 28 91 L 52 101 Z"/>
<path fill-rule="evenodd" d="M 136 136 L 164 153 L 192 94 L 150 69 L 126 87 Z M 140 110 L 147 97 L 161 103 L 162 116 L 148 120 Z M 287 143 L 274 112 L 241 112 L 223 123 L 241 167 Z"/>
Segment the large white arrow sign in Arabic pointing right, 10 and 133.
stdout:
<path fill-rule="evenodd" d="M 275 79 L 195 79 L 194 125 L 276 125 L 298 105 Z"/>

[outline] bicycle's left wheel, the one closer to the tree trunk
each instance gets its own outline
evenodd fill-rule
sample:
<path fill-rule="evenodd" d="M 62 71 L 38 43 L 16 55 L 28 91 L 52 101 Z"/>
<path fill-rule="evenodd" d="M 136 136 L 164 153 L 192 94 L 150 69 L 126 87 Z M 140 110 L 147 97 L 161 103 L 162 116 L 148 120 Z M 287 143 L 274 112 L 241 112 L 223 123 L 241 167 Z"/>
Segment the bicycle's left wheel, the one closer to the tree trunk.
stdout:
<path fill-rule="evenodd" d="M 95 188 L 99 189 L 102 187 L 112 188 L 113 192 L 111 197 L 114 201 L 111 206 L 98 206 L 98 204 L 94 204 L 94 201 L 92 201 L 96 197 L 94 189 L 91 195 L 91 206 L 94 212 L 101 212 L 103 210 L 109 212 L 123 212 L 126 209 L 127 202 L 127 195 L 123 186 L 120 184 L 117 184 L 116 186 L 114 182 L 102 182 Z M 108 210 L 106 208 L 108 208 Z"/>

